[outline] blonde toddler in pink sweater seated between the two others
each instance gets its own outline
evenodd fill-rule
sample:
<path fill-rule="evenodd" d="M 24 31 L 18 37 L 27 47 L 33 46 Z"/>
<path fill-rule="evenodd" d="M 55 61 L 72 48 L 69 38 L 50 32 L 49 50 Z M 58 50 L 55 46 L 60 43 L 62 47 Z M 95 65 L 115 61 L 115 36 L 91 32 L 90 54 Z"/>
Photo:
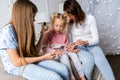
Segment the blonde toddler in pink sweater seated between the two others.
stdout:
<path fill-rule="evenodd" d="M 56 59 L 59 59 L 61 63 L 65 64 L 70 70 L 71 80 L 74 80 L 72 70 L 70 67 L 69 59 L 66 55 L 70 56 L 74 62 L 75 68 L 80 76 L 81 80 L 86 80 L 81 70 L 81 63 L 73 52 L 66 51 L 66 45 L 68 44 L 68 38 L 64 33 L 68 18 L 64 14 L 54 13 L 52 16 L 53 30 L 46 33 L 44 38 L 43 50 L 45 52 L 54 52 Z"/>

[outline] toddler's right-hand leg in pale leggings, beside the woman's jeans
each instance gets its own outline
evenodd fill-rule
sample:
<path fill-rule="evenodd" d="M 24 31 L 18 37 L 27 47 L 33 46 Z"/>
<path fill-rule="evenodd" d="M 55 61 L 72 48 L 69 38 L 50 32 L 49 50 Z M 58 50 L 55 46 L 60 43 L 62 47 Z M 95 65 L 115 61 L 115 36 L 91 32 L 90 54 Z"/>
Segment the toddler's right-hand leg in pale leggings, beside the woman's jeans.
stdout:
<path fill-rule="evenodd" d="M 74 65 L 75 65 L 75 68 L 76 68 L 78 74 L 80 75 L 80 77 L 84 76 L 84 72 L 83 72 L 83 70 L 82 70 L 81 62 L 80 62 L 77 54 L 76 54 L 76 53 L 69 52 L 68 55 L 69 55 L 70 58 L 72 59 Z"/>

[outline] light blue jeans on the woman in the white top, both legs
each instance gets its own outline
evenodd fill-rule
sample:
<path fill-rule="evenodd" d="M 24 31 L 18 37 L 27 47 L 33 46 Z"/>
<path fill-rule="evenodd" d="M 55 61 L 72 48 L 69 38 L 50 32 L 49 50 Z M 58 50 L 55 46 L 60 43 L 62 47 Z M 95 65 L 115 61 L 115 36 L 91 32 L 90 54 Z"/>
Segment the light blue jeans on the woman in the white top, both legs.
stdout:
<path fill-rule="evenodd" d="M 85 53 L 88 54 L 89 56 L 86 57 Z M 90 80 L 90 76 L 91 76 L 90 73 L 92 71 L 94 62 L 105 80 L 115 80 L 110 64 L 108 63 L 103 51 L 99 46 L 96 46 L 96 45 L 87 46 L 86 50 L 81 50 L 78 53 L 78 55 L 80 57 L 80 60 L 83 63 L 83 68 L 85 69 L 86 76 L 88 76 L 87 77 L 88 80 Z M 90 55 L 92 57 L 90 57 Z M 93 61 L 93 58 L 94 58 L 94 61 Z"/>

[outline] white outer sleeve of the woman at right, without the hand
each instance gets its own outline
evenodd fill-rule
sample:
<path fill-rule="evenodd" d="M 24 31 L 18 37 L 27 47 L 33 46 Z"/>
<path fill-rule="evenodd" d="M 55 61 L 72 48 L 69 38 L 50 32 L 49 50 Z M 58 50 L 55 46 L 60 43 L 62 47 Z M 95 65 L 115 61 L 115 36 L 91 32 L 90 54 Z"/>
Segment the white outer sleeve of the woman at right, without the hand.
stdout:
<path fill-rule="evenodd" d="M 99 36 L 98 36 L 98 30 L 97 30 L 97 24 L 94 16 L 90 16 L 89 19 L 89 26 L 90 26 L 90 32 L 91 32 L 91 38 L 88 39 L 89 45 L 96 45 L 99 42 Z"/>

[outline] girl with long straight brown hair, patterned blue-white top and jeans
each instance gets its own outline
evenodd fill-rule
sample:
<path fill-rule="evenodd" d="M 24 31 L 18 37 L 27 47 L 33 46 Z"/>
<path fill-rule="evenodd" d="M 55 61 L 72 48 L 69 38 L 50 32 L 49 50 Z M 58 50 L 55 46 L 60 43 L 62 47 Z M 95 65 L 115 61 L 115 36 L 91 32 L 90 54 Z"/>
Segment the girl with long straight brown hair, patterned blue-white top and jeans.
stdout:
<path fill-rule="evenodd" d="M 33 22 L 36 12 L 37 7 L 29 0 L 14 3 L 11 22 L 0 30 L 4 69 L 29 80 L 69 80 L 66 66 L 51 60 L 55 57 L 52 52 L 38 55 L 42 38 L 35 45 Z"/>

